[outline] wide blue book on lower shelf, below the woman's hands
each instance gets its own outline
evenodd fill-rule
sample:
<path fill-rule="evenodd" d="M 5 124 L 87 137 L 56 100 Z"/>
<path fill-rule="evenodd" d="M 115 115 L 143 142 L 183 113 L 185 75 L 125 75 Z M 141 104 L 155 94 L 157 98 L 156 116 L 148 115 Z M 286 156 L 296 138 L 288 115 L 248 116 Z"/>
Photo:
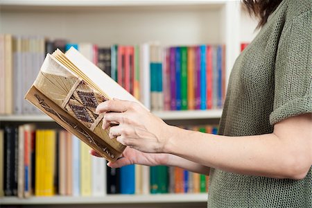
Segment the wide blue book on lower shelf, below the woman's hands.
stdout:
<path fill-rule="evenodd" d="M 120 168 L 120 193 L 135 194 L 135 165 Z"/>

